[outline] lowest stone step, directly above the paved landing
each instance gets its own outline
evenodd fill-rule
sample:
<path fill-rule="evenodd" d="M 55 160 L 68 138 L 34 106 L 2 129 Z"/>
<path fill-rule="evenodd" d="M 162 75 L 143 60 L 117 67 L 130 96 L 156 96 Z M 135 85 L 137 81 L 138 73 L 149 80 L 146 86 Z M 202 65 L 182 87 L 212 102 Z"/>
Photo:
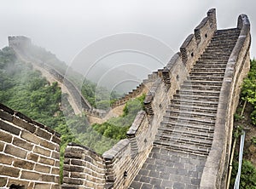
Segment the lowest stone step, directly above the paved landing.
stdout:
<path fill-rule="evenodd" d="M 160 146 L 175 152 L 187 152 L 187 153 L 195 154 L 199 156 L 207 156 L 210 152 L 210 148 L 208 147 L 196 147 L 196 146 L 183 145 L 180 143 L 179 144 L 172 143 L 172 146 L 170 146 L 169 142 L 162 141 L 162 140 L 155 140 L 154 146 Z"/>

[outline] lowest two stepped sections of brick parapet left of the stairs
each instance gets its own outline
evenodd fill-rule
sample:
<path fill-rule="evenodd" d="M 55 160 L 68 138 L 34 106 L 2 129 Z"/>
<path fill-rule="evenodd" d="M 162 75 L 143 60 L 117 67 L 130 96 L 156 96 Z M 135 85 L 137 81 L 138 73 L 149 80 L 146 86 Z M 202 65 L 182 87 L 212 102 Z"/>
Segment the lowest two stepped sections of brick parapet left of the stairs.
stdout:
<path fill-rule="evenodd" d="M 153 129 L 154 126 L 148 124 L 146 112 L 138 112 L 127 132 L 128 139 L 120 140 L 102 155 L 107 167 L 108 187 L 127 188 L 131 184 L 152 148 Z"/>

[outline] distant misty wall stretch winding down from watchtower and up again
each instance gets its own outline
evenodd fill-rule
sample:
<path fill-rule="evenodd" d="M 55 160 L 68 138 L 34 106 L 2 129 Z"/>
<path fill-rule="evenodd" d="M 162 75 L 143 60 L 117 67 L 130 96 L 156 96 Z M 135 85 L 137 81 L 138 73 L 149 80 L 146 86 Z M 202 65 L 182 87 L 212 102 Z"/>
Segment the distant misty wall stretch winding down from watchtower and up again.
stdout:
<path fill-rule="evenodd" d="M 90 106 L 90 103 L 84 98 L 78 87 L 67 76 L 61 74 L 61 72 L 58 72 L 54 67 L 49 66 L 47 62 L 43 62 L 42 60 L 32 57 L 30 54 L 24 53 L 26 49 L 32 48 L 32 46 L 32 41 L 28 37 L 9 37 L 9 47 L 15 49 L 17 57 L 20 60 L 32 64 L 33 68 L 39 72 L 42 72 L 44 77 L 46 77 L 50 82 L 54 81 L 59 83 L 62 91 L 69 94 L 68 100 L 70 101 L 71 106 L 73 106 L 73 110 L 76 114 L 86 112 L 88 117 L 95 117 L 94 119 L 98 118 L 106 120 L 111 117 L 111 113 L 109 112 L 112 112 L 114 108 L 125 105 L 128 100 L 134 99 L 143 93 L 147 94 L 148 89 L 150 89 L 155 79 L 159 77 L 158 72 L 149 74 L 148 78 L 144 79 L 143 83 L 137 86 L 137 89 L 133 89 L 128 94 L 125 94 L 124 97 L 116 100 L 111 106 L 111 109 L 106 112 Z"/>

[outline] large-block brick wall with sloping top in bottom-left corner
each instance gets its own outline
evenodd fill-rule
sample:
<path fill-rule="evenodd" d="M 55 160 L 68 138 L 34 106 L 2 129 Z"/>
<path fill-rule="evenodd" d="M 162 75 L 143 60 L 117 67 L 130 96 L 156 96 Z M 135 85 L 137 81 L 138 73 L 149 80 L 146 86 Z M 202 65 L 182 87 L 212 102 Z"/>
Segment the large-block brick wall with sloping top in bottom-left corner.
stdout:
<path fill-rule="evenodd" d="M 0 187 L 59 188 L 60 137 L 0 104 Z"/>

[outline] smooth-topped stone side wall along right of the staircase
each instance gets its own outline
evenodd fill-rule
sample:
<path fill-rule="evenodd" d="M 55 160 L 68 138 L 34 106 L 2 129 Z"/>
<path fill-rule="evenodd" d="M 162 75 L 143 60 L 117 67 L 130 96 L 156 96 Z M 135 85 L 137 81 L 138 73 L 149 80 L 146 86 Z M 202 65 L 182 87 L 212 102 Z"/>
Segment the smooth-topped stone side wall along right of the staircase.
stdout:
<path fill-rule="evenodd" d="M 226 188 L 233 131 L 233 117 L 239 100 L 241 83 L 250 67 L 250 23 L 241 14 L 237 28 L 241 29 L 236 46 L 230 54 L 218 102 L 212 150 L 201 176 L 201 188 Z"/>

